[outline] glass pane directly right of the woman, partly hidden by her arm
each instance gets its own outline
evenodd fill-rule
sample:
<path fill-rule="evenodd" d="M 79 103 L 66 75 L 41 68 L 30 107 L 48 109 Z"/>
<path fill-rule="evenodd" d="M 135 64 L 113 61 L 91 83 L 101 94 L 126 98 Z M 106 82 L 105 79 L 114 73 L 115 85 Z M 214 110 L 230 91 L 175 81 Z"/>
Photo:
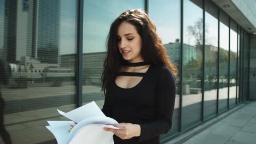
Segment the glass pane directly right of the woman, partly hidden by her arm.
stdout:
<path fill-rule="evenodd" d="M 162 44 L 166 47 L 168 56 L 179 69 L 181 56 L 181 43 L 179 41 L 181 38 L 181 1 L 149 1 L 149 17 L 155 23 L 156 31 L 162 39 Z M 179 76 L 176 77 L 176 87 L 173 124 L 169 133 L 162 136 L 163 139 L 176 134 L 179 130 Z"/>

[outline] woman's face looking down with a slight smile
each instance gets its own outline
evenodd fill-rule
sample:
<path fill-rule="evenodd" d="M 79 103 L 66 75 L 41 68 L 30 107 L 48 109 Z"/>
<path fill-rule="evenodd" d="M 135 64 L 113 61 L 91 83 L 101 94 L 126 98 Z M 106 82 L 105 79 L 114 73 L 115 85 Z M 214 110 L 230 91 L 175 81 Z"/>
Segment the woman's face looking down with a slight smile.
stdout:
<path fill-rule="evenodd" d="M 136 27 L 123 21 L 118 27 L 118 49 L 123 58 L 130 63 L 144 61 L 141 56 L 142 39 Z"/>

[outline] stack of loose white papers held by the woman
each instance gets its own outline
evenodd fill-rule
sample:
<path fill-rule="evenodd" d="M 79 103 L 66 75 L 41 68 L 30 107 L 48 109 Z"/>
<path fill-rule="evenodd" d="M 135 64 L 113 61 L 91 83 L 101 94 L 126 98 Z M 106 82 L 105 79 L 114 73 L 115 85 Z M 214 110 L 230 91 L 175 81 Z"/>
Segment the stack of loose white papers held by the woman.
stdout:
<path fill-rule="evenodd" d="M 118 122 L 113 118 L 106 117 L 94 101 L 67 113 L 57 111 L 72 120 L 47 121 L 49 126 L 46 128 L 53 133 L 59 144 L 114 143 L 113 133 L 105 131 L 103 128 L 119 129 L 112 125 L 106 125 Z"/>

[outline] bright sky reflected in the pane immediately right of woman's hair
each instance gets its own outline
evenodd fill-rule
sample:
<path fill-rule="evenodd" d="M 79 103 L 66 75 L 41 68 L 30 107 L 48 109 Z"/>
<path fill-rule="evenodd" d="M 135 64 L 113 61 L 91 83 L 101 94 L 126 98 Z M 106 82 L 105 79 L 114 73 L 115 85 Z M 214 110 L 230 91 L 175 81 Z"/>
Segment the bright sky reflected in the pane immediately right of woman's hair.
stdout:
<path fill-rule="evenodd" d="M 181 4 L 179 1 L 149 1 L 149 17 L 153 20 L 163 44 L 181 39 Z"/>

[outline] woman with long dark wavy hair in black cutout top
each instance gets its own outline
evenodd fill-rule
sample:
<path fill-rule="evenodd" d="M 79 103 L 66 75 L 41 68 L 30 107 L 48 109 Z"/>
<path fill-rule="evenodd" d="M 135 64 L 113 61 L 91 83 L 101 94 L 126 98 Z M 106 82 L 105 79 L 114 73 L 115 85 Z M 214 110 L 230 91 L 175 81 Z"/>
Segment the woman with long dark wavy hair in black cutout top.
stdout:
<path fill-rule="evenodd" d="M 160 143 L 171 129 L 177 69 L 156 28 L 141 9 L 125 11 L 111 25 L 102 74 L 102 111 L 119 122 L 115 143 Z"/>

